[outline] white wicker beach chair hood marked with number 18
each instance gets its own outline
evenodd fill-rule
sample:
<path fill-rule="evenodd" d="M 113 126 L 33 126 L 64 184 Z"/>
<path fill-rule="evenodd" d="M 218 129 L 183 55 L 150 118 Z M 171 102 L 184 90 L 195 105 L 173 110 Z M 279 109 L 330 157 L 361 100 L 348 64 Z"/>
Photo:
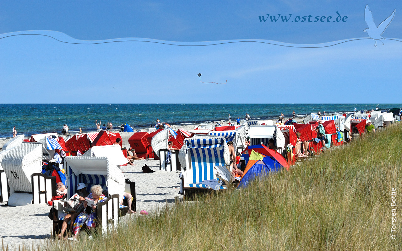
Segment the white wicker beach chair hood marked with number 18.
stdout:
<path fill-rule="evenodd" d="M 15 192 L 32 192 L 31 175 L 42 172 L 43 145 L 23 142 L 7 151 L 1 165 Z"/>

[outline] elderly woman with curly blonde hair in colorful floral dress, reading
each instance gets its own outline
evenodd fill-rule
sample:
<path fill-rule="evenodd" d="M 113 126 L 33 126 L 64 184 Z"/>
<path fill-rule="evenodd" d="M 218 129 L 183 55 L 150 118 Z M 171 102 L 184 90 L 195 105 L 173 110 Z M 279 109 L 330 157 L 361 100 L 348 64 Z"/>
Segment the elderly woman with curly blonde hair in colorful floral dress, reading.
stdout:
<path fill-rule="evenodd" d="M 80 232 L 82 226 L 86 224 L 88 229 L 92 229 L 95 227 L 96 223 L 96 204 L 98 202 L 104 202 L 107 198 L 105 195 L 102 194 L 103 189 L 100 185 L 94 185 L 91 187 L 91 193 L 84 201 L 84 212 L 78 214 L 76 221 L 74 222 L 73 227 L 73 237 L 69 238 L 70 240 L 76 240 L 77 235 Z M 89 200 L 88 200 L 89 199 Z M 93 200 L 93 206 L 90 207 L 88 201 Z"/>

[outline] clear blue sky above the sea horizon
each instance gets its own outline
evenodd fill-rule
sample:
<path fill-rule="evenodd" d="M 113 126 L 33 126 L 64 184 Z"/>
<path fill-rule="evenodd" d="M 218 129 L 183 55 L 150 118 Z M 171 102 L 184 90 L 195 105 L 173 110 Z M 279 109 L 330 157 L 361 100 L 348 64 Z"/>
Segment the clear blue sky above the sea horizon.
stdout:
<path fill-rule="evenodd" d="M 74 39 L 142 37 L 166 41 L 268 39 L 315 44 L 368 37 L 364 8 L 383 36 L 399 38 L 397 1 L 0 1 L 0 34 L 50 30 Z M 273 14 L 347 22 L 260 22 Z M 260 43 L 181 47 L 146 42 L 60 43 L 0 39 L 2 103 L 399 103 L 402 43 L 371 39 L 326 48 Z M 204 82 L 227 84 L 202 84 Z M 111 86 L 117 87 L 111 88 Z M 16 95 L 18 94 L 18 95 Z"/>

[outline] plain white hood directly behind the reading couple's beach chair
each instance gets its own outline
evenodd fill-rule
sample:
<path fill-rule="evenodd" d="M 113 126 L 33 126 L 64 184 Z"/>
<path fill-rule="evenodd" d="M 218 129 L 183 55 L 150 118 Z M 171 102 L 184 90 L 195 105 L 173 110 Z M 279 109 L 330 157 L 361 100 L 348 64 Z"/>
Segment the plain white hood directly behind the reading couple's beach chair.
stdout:
<path fill-rule="evenodd" d="M 127 158 L 123 155 L 120 145 L 103 145 L 91 147 L 81 157 L 107 157 L 109 161 L 115 165 L 124 165 L 128 163 Z"/>

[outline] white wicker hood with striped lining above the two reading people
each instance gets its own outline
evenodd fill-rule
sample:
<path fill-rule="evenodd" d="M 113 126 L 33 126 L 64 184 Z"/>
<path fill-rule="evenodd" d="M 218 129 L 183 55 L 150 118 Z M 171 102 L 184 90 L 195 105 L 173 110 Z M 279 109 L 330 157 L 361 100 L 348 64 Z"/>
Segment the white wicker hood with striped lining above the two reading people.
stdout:
<path fill-rule="evenodd" d="M 86 184 L 89 192 L 91 186 L 99 184 L 107 189 L 109 196 L 119 194 L 123 198 L 125 177 L 115 163 L 107 157 L 66 157 L 68 198 L 76 193 L 78 183 Z"/>

